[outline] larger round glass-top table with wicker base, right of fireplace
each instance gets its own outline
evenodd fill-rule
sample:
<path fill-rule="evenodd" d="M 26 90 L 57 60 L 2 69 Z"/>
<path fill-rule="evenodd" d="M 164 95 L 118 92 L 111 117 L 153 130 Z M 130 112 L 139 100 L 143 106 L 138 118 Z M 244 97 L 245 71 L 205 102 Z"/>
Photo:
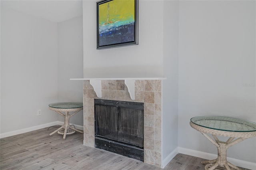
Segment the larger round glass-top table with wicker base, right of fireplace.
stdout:
<path fill-rule="evenodd" d="M 224 166 L 227 170 L 230 170 L 230 167 L 240 170 L 240 168 L 226 160 L 227 149 L 246 138 L 256 136 L 256 123 L 231 117 L 193 117 L 190 119 L 190 126 L 201 132 L 218 149 L 218 158 L 215 160 L 202 161 L 202 164 L 206 164 L 205 170 L 214 170 L 218 166 Z M 212 134 L 214 140 L 208 136 L 207 133 Z M 226 142 L 223 142 L 220 141 L 216 135 L 228 136 L 229 138 Z"/>

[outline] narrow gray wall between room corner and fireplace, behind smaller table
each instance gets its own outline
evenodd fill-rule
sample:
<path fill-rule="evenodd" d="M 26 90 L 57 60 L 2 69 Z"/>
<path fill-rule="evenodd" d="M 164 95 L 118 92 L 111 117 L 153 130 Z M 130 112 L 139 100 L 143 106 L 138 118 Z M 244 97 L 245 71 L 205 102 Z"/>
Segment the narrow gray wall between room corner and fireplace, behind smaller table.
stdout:
<path fill-rule="evenodd" d="M 82 16 L 58 23 L 58 102 L 83 103 L 83 25 Z M 58 115 L 58 121 L 64 121 Z M 83 111 L 70 118 L 70 124 L 83 126 Z"/>

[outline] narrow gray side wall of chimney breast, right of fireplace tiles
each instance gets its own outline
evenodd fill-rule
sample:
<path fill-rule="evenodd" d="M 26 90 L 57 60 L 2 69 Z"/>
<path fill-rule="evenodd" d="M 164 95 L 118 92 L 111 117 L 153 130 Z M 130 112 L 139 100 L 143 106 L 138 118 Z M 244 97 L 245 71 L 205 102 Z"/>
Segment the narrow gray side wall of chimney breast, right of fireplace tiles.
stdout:
<path fill-rule="evenodd" d="M 164 1 L 164 77 L 162 106 L 162 159 L 178 146 L 179 2 Z"/>

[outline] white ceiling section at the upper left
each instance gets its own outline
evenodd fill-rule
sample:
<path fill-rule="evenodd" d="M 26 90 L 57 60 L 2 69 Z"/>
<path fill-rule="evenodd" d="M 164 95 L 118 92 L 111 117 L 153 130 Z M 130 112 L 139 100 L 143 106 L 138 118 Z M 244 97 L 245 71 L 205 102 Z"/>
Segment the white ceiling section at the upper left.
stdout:
<path fill-rule="evenodd" d="M 1 6 L 52 22 L 82 16 L 82 0 L 1 0 Z"/>

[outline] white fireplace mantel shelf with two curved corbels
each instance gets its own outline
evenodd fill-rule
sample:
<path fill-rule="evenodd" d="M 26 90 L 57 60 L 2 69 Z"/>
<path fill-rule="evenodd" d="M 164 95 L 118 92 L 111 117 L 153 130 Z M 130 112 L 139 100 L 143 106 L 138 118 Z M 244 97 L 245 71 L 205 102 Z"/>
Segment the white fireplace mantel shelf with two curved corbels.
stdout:
<path fill-rule="evenodd" d="M 148 77 L 148 78 L 81 78 L 81 79 L 70 79 L 70 80 L 90 80 L 96 95 L 98 98 L 102 97 L 101 93 L 101 81 L 102 80 L 124 80 L 124 83 L 128 89 L 132 100 L 135 99 L 135 80 L 164 80 L 165 77 Z"/>

